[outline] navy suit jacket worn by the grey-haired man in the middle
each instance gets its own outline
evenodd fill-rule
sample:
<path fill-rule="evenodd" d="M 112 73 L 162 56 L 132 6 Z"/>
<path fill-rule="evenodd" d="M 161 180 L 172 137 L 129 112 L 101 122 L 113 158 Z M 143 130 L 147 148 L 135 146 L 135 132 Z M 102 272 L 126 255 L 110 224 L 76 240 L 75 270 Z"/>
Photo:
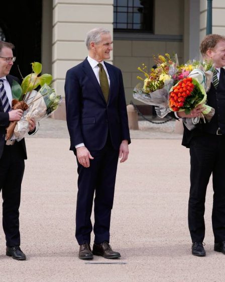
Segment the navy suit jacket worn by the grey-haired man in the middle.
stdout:
<path fill-rule="evenodd" d="M 108 133 L 116 150 L 124 139 L 131 143 L 121 70 L 104 64 L 110 78 L 107 103 L 87 58 L 67 71 L 65 102 L 70 150 L 80 143 L 88 150 L 101 150 Z"/>

